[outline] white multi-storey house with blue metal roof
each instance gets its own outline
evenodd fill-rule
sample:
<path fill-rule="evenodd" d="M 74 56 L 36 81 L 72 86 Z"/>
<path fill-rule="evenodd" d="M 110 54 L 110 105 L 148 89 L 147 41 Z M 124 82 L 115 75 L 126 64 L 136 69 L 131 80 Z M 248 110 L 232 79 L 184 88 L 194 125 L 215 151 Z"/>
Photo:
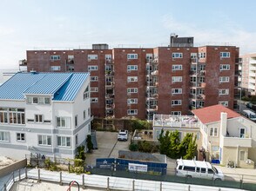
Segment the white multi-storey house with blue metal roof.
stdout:
<path fill-rule="evenodd" d="M 0 155 L 74 158 L 91 134 L 89 73 L 17 73 L 0 86 Z"/>

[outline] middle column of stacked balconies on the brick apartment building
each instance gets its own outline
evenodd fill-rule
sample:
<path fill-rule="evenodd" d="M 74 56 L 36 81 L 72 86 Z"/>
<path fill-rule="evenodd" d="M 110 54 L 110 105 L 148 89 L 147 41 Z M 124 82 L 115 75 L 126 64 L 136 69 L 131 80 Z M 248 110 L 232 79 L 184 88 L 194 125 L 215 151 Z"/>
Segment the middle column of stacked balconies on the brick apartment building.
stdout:
<path fill-rule="evenodd" d="M 158 112 L 158 57 L 146 58 L 146 118 L 153 120 L 153 115 Z"/>

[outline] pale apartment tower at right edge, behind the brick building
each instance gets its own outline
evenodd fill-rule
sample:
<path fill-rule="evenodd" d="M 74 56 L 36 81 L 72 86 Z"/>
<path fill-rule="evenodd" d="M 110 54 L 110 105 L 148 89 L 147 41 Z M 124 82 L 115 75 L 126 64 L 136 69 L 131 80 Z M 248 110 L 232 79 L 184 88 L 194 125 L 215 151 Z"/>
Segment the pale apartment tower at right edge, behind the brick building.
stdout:
<path fill-rule="evenodd" d="M 247 95 L 256 95 L 256 53 L 241 56 L 242 88 Z"/>

